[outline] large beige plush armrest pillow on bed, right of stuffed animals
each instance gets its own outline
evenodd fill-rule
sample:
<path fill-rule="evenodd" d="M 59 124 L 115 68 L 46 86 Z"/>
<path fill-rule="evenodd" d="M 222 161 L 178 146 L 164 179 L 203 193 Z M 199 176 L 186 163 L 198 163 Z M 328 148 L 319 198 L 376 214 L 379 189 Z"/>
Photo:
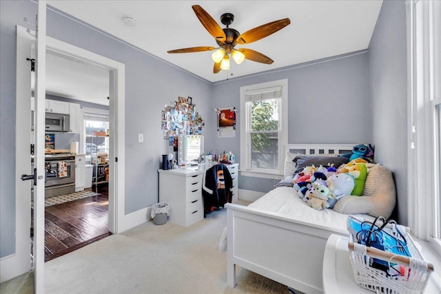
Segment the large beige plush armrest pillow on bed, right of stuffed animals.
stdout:
<path fill-rule="evenodd" d="M 396 204 L 396 189 L 391 171 L 382 165 L 369 170 L 362 196 L 343 196 L 334 211 L 345 214 L 366 213 L 389 218 Z"/>

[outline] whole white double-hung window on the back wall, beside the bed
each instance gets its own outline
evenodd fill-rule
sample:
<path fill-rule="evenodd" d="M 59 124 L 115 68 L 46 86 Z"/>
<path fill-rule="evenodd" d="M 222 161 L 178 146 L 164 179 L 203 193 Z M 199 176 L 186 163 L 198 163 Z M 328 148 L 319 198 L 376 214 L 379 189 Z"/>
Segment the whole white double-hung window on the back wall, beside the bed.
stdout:
<path fill-rule="evenodd" d="M 283 174 L 285 158 L 280 155 L 287 145 L 287 92 L 287 79 L 240 87 L 241 169 Z"/>

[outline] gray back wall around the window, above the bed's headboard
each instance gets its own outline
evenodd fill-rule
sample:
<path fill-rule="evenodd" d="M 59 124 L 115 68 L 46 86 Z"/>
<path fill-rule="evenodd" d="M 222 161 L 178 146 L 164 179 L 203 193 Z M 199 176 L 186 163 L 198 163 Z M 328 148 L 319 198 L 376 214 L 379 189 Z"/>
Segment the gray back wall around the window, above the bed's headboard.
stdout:
<path fill-rule="evenodd" d="M 370 143 L 368 57 L 367 51 L 354 52 L 216 83 L 214 107 L 236 107 L 239 122 L 240 87 L 287 78 L 288 143 Z M 216 148 L 231 150 L 240 160 L 240 123 L 237 126 L 236 138 L 214 140 Z M 241 176 L 239 189 L 267 192 L 275 182 Z"/>

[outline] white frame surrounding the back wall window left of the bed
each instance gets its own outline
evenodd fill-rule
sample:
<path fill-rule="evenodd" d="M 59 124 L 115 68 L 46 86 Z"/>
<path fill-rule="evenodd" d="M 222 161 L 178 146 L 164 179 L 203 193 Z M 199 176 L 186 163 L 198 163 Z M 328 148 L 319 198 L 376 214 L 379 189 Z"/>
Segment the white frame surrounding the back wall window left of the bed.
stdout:
<path fill-rule="evenodd" d="M 247 112 L 246 93 L 269 89 L 274 87 L 281 87 L 280 97 L 280 118 L 279 118 L 279 141 L 278 141 L 278 170 L 267 171 L 263 169 L 252 169 L 251 167 L 251 142 L 247 129 L 251 122 L 251 113 Z M 285 162 L 285 148 L 288 143 L 288 79 L 278 81 L 271 81 L 267 83 L 259 83 L 255 85 L 247 85 L 240 87 L 240 171 L 241 176 L 253 176 L 256 178 L 280 178 L 283 176 L 283 162 Z"/>

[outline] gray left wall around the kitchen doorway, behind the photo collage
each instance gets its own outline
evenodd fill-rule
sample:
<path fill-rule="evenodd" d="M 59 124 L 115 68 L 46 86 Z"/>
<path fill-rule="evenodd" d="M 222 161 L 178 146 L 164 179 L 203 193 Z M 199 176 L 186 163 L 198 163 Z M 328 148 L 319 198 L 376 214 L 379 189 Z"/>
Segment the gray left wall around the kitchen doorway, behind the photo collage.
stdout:
<path fill-rule="evenodd" d="M 36 3 L 0 1 L 1 11 L 1 224 L 0 258 L 15 247 L 15 25 L 35 19 Z M 158 201 L 157 169 L 161 154 L 172 151 L 161 131 L 161 110 L 178 96 L 191 96 L 203 118 L 212 116 L 212 84 L 116 41 L 88 26 L 48 10 L 48 36 L 125 64 L 125 213 Z M 205 123 L 205 146 L 213 129 Z M 138 143 L 138 133 L 145 136 Z M 154 144 L 152 144 L 154 142 Z"/>

